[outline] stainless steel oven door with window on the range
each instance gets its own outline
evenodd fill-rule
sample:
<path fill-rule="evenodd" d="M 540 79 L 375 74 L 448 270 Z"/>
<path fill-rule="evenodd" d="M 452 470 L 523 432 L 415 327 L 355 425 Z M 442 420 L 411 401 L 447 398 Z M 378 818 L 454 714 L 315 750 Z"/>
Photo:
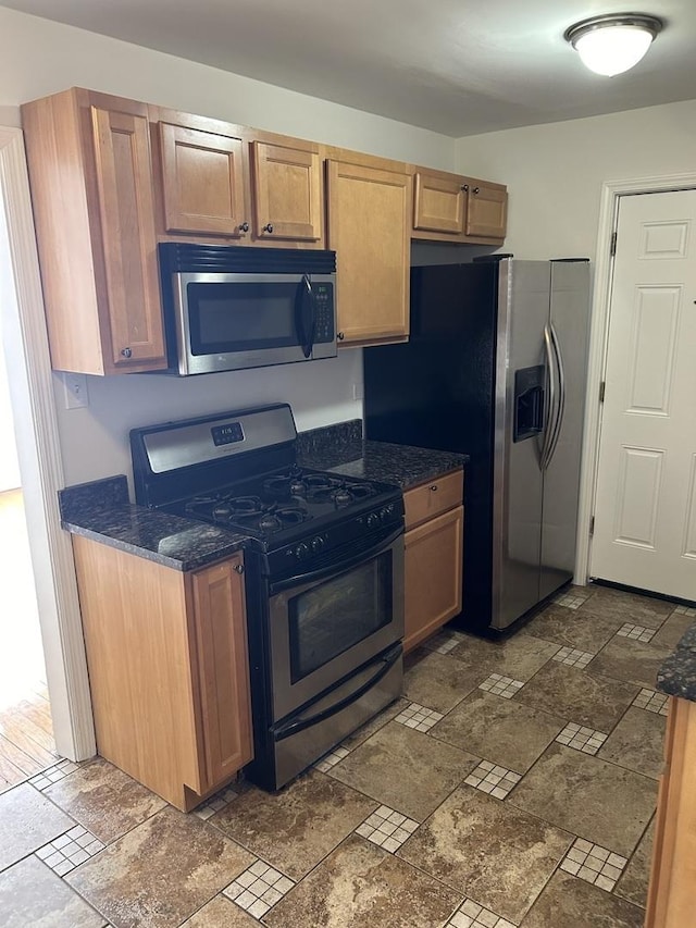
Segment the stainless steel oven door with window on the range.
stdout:
<path fill-rule="evenodd" d="M 403 638 L 403 529 L 364 550 L 271 583 L 273 721 L 336 686 Z"/>

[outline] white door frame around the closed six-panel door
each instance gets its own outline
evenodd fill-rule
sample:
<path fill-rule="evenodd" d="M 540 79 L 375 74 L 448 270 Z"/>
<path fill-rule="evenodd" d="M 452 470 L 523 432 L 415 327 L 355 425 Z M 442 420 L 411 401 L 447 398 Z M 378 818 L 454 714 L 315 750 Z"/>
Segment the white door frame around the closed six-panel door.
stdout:
<path fill-rule="evenodd" d="M 613 284 L 614 258 L 611 236 L 619 222 L 620 198 L 635 194 L 664 194 L 671 190 L 696 188 L 696 173 L 667 174 L 663 176 L 634 177 L 607 181 L 601 185 L 597 252 L 592 295 L 592 327 L 587 361 L 587 389 L 585 394 L 585 426 L 580 478 L 577 512 L 577 556 L 573 582 L 584 585 L 589 579 L 592 548 L 592 518 L 595 511 L 597 473 L 599 469 L 599 429 L 601 404 L 599 388 L 604 378 L 609 342 L 609 309 Z"/>

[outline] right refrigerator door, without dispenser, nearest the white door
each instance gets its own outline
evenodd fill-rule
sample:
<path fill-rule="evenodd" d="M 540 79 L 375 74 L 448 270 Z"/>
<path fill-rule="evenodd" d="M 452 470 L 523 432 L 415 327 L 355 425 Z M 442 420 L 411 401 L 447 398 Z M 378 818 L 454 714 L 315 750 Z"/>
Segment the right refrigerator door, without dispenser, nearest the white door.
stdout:
<path fill-rule="evenodd" d="M 570 580 L 575 568 L 588 319 L 589 264 L 551 262 L 549 329 L 559 403 L 544 462 L 542 599 Z"/>

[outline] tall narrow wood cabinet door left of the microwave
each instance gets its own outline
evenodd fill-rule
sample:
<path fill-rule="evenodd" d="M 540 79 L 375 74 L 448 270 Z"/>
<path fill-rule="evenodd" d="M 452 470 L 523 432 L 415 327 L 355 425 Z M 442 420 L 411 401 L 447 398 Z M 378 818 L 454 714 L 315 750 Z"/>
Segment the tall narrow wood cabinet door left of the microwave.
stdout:
<path fill-rule="evenodd" d="M 91 122 L 111 362 L 164 367 L 148 121 L 91 107 Z"/>

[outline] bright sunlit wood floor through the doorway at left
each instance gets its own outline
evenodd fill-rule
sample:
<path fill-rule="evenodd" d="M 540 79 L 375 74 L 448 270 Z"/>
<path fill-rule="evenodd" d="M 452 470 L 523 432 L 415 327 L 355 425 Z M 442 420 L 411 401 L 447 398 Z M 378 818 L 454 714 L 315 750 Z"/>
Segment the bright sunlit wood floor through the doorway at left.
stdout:
<path fill-rule="evenodd" d="M 0 792 L 58 759 L 22 492 L 0 493 Z"/>

